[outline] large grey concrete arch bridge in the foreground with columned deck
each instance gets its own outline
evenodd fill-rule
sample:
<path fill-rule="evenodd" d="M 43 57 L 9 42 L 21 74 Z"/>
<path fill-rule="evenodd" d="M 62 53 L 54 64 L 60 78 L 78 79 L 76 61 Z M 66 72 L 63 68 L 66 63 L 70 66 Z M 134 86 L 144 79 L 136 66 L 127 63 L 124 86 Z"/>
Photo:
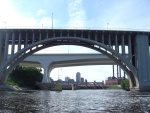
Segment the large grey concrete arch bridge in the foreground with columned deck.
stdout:
<path fill-rule="evenodd" d="M 16 65 L 39 50 L 57 45 L 78 45 L 111 58 L 128 75 L 130 89 L 150 90 L 149 39 L 149 31 L 0 29 L 0 84 L 5 84 Z M 8 59 L 9 45 L 11 57 Z"/>

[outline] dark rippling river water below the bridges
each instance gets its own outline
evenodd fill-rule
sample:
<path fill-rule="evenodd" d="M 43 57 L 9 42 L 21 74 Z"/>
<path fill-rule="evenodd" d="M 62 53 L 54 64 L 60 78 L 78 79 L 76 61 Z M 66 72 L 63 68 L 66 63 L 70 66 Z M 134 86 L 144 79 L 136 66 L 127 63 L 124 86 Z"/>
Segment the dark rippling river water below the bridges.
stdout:
<path fill-rule="evenodd" d="M 123 90 L 0 92 L 0 113 L 149 113 L 150 93 Z"/>

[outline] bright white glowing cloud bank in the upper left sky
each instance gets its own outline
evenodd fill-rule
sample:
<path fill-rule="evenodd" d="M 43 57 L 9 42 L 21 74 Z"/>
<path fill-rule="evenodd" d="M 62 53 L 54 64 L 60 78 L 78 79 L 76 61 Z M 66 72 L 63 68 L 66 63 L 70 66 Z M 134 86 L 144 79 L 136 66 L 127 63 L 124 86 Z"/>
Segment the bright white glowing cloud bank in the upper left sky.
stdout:
<path fill-rule="evenodd" d="M 45 15 L 46 11 L 39 9 L 37 15 Z M 0 1 L 0 28 L 47 28 L 50 27 L 51 17 L 36 18 L 33 15 L 22 14 L 10 0 Z"/>

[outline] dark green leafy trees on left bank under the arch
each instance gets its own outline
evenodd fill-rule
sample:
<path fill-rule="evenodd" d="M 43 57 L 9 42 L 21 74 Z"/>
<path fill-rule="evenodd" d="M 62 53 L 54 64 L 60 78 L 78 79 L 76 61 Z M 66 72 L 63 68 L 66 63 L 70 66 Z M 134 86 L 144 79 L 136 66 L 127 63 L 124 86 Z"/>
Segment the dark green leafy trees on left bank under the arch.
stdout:
<path fill-rule="evenodd" d="M 41 69 L 17 66 L 9 75 L 7 83 L 18 87 L 33 87 L 35 82 L 41 82 Z"/>

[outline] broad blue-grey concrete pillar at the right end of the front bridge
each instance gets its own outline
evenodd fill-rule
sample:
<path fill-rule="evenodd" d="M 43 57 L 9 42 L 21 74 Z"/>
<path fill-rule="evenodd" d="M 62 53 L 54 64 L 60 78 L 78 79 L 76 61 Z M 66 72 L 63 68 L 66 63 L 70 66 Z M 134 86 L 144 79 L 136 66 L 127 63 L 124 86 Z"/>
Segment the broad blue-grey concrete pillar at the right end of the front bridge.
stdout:
<path fill-rule="evenodd" d="M 139 89 L 150 90 L 150 55 L 148 35 L 137 34 L 135 47 L 137 52 L 137 78 L 139 80 Z"/>

